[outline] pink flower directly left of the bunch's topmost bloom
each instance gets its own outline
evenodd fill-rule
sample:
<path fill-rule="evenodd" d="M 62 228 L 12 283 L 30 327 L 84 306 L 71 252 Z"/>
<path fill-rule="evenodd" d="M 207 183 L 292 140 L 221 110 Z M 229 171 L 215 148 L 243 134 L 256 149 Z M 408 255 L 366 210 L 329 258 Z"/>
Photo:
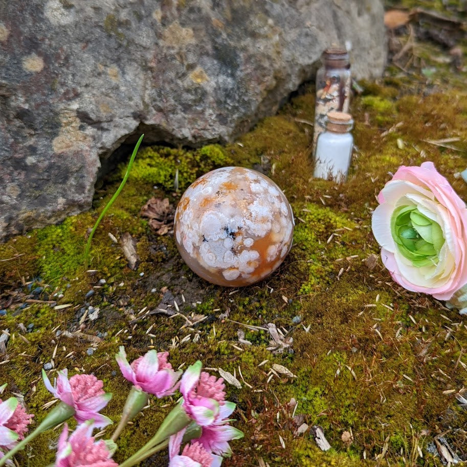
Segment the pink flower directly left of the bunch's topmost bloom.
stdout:
<path fill-rule="evenodd" d="M 112 394 L 103 391 L 104 384 L 96 376 L 77 374 L 68 379 L 68 370 L 64 369 L 58 372 L 58 378 L 52 386 L 46 372 L 42 370 L 42 379 L 57 399 L 75 410 L 74 416 L 78 423 L 93 419 L 97 428 L 112 423 L 110 418 L 99 413 L 108 404 Z"/>

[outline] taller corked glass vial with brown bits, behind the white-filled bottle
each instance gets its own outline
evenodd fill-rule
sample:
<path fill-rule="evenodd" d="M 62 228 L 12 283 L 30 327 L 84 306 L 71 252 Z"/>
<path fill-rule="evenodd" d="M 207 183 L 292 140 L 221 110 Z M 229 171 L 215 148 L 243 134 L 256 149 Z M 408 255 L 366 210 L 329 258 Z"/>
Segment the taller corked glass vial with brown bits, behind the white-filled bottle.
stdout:
<path fill-rule="evenodd" d="M 350 104 L 350 61 L 345 49 L 327 49 L 322 55 L 322 66 L 316 73 L 315 130 L 313 147 L 325 130 L 329 112 L 348 112 Z"/>

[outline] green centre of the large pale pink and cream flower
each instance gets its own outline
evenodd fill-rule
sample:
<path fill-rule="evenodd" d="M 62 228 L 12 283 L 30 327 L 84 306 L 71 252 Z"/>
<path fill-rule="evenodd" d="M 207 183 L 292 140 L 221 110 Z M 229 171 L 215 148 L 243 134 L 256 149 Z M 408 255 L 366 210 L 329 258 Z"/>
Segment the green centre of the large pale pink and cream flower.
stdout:
<path fill-rule="evenodd" d="M 416 267 L 438 263 L 444 237 L 439 224 L 415 206 L 401 206 L 391 217 L 391 235 L 399 251 Z"/>

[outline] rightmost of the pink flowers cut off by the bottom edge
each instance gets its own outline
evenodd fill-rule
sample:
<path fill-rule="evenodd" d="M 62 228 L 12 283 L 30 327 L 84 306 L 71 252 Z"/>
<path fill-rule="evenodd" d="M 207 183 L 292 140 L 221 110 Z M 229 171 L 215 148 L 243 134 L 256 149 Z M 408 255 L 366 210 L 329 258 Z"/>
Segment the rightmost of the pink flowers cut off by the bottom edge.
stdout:
<path fill-rule="evenodd" d="M 197 440 L 187 444 L 180 455 L 185 430 L 169 438 L 169 467 L 219 467 L 222 458 L 207 451 Z"/>

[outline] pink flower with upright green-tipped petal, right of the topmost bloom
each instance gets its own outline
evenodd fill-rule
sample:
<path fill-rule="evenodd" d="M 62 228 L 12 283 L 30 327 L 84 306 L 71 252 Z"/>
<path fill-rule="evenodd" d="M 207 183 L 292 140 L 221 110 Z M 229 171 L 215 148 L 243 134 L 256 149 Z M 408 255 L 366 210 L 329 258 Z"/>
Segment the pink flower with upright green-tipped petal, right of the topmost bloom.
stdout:
<path fill-rule="evenodd" d="M 222 378 L 201 372 L 202 363 L 198 360 L 190 365 L 182 376 L 180 392 L 183 395 L 183 408 L 187 415 L 199 426 L 214 422 L 219 408 L 225 404 L 226 393 Z"/>

